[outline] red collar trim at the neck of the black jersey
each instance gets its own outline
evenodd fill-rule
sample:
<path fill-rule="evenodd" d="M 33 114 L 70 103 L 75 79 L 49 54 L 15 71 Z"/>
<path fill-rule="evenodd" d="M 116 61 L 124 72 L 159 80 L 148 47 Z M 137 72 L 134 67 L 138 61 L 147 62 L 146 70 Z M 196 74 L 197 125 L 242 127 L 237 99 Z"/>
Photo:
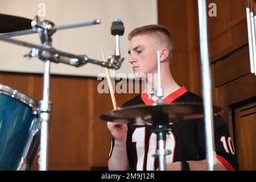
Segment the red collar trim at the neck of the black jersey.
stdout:
<path fill-rule="evenodd" d="M 188 90 L 182 86 L 181 88 L 177 89 L 175 92 L 172 92 L 170 95 L 168 95 L 166 98 L 164 98 L 164 102 L 166 104 L 170 104 L 172 101 L 176 100 L 176 98 L 179 98 L 184 93 L 186 93 Z M 147 93 L 141 94 L 141 99 L 146 105 L 154 104 L 155 101 L 151 100 Z"/>

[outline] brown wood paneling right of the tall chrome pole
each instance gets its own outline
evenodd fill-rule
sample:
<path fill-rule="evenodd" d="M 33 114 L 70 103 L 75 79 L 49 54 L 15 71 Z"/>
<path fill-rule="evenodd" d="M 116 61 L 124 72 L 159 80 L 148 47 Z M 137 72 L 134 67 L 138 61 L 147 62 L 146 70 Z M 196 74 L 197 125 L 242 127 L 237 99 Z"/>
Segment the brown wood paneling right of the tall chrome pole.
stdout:
<path fill-rule="evenodd" d="M 224 109 L 222 117 L 236 143 L 240 169 L 255 170 L 255 113 L 243 111 L 255 106 L 256 97 L 256 77 L 250 73 L 247 46 L 246 2 L 208 2 L 217 5 L 217 17 L 208 18 L 213 103 Z M 246 115 L 248 112 L 252 114 Z"/>

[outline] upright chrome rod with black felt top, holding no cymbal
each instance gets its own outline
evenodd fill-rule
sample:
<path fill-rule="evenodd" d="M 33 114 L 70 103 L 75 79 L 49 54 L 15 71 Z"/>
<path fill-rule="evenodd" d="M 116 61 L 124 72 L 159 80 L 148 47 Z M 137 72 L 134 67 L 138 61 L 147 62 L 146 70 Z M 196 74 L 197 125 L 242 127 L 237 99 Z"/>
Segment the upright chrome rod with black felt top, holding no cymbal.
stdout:
<path fill-rule="evenodd" d="M 115 53 L 108 57 L 108 62 L 114 65 L 115 69 L 121 67 L 121 63 L 124 58 L 121 59 L 121 53 L 119 48 L 119 36 L 123 35 L 125 32 L 125 27 L 123 27 L 123 22 L 121 19 L 117 18 L 112 22 L 111 34 L 115 36 Z"/>

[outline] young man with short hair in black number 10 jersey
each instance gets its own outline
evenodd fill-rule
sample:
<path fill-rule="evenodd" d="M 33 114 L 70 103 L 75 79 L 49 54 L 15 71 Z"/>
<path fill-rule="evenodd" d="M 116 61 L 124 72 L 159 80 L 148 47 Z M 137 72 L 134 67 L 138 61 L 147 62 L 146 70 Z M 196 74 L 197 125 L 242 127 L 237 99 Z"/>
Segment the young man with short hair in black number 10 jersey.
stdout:
<path fill-rule="evenodd" d="M 133 64 L 135 75 L 146 75 L 146 84 L 157 88 L 154 73 L 157 73 L 156 51 L 160 50 L 160 69 L 163 100 L 171 102 L 202 102 L 199 96 L 179 86 L 170 71 L 173 40 L 170 32 L 159 25 L 149 25 L 131 31 L 128 39 L 129 62 Z M 147 76 L 147 75 L 153 75 Z M 150 98 L 150 90 L 127 101 L 123 106 L 153 104 L 156 98 Z M 166 148 L 172 151 L 166 156 L 167 170 L 206 170 L 204 119 L 192 122 L 177 122 L 170 126 Z M 109 156 L 110 170 L 156 170 L 158 160 L 152 158 L 156 151 L 156 134 L 150 125 L 123 125 L 108 122 L 108 129 L 113 135 L 112 149 Z M 229 135 L 228 127 L 220 115 L 214 117 L 214 138 L 216 151 L 216 170 L 238 169 L 237 158 Z"/>

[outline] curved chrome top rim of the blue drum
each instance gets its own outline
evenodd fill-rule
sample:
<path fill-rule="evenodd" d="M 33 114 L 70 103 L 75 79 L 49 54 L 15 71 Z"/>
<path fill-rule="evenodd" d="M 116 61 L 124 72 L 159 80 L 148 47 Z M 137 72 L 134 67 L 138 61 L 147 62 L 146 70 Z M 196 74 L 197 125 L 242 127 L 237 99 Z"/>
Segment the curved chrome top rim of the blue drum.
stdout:
<path fill-rule="evenodd" d="M 38 102 L 28 97 L 26 94 L 19 92 L 18 90 L 11 88 L 10 86 L 0 84 L 0 93 L 6 94 L 7 96 L 16 98 L 17 100 L 27 104 L 28 106 L 34 108 L 38 107 Z"/>

